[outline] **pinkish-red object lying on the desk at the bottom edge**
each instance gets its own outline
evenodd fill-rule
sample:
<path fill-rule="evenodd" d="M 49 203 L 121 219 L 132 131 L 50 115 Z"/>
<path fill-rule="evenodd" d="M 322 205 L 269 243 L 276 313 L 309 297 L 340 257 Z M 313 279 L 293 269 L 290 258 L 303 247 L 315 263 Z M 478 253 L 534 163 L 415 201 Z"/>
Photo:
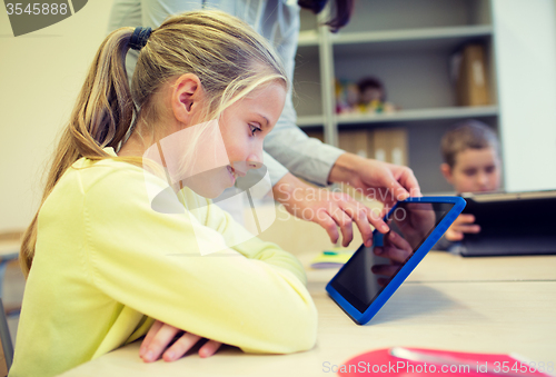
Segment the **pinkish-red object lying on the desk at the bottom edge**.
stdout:
<path fill-rule="evenodd" d="M 516 355 L 394 347 L 358 355 L 339 366 L 334 366 L 336 370 L 332 369 L 332 371 L 337 371 L 342 377 L 377 375 L 393 377 L 546 377 L 552 376 L 554 367 L 554 360 L 529 361 Z"/>

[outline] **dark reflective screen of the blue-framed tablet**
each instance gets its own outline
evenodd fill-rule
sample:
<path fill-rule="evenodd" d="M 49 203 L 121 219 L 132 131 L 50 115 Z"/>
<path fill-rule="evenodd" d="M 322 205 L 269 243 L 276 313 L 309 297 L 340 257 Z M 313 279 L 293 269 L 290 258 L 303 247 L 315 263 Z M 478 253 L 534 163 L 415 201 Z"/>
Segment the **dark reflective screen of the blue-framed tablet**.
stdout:
<path fill-rule="evenodd" d="M 394 262 L 375 255 L 375 245 L 370 248 L 361 246 L 331 281 L 334 289 L 357 310 L 364 312 L 453 206 L 453 204 L 445 202 L 398 204 L 398 207 L 389 215 L 387 222 L 390 231 L 396 232 L 394 237 L 397 235 L 401 237 L 395 242 L 385 235 L 383 248 L 395 248 L 395 252 L 403 256 L 401 259 L 405 258 L 405 260 Z M 378 270 L 371 270 L 374 266 L 377 266 Z"/>

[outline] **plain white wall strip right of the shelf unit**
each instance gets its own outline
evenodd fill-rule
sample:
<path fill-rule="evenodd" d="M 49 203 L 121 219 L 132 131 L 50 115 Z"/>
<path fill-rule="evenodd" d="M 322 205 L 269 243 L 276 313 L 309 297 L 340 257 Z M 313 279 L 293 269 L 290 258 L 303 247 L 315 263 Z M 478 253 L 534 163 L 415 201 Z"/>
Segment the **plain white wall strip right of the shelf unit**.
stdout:
<path fill-rule="evenodd" d="M 556 189 L 553 0 L 493 0 L 505 188 Z"/>

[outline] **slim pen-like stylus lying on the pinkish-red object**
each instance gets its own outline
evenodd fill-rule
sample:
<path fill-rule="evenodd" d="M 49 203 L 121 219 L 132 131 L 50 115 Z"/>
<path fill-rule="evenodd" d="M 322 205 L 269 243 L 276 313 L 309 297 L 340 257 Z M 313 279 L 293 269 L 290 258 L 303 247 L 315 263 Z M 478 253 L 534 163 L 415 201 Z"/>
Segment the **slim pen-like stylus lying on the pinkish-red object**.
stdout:
<path fill-rule="evenodd" d="M 429 355 L 423 351 L 416 351 L 416 350 L 410 350 L 407 348 L 403 347 L 394 347 L 390 348 L 390 355 L 398 357 L 400 359 L 406 359 L 410 361 L 420 361 L 420 363 L 431 363 L 431 364 L 441 364 L 441 365 L 449 365 L 449 366 L 465 366 L 468 367 L 468 370 L 476 370 L 477 369 L 477 360 L 468 360 L 468 359 L 460 359 L 457 357 L 451 357 L 451 356 L 445 356 L 445 355 Z M 533 376 L 538 376 L 538 375 L 530 375 L 527 373 L 504 373 L 498 369 L 493 368 L 492 366 L 487 365 L 486 373 L 495 376 L 508 376 L 508 377 L 533 377 Z M 481 371 L 484 373 L 484 371 Z"/>

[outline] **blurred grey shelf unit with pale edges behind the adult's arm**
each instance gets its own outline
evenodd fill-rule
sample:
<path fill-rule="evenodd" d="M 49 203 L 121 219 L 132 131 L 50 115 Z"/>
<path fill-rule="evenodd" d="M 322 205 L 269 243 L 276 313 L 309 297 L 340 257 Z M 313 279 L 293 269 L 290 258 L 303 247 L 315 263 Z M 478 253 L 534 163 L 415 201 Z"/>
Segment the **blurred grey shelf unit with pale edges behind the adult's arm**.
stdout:
<path fill-rule="evenodd" d="M 408 161 L 424 192 L 450 191 L 439 171 L 439 141 L 456 121 L 474 118 L 498 129 L 492 0 L 359 0 L 347 27 L 330 33 L 301 10 L 295 106 L 298 125 L 337 145 L 348 129 L 404 127 Z M 322 17 L 325 18 L 325 17 Z M 449 75 L 450 56 L 467 42 L 485 46 L 492 105 L 458 107 Z M 399 111 L 335 113 L 335 78 L 373 76 Z"/>

